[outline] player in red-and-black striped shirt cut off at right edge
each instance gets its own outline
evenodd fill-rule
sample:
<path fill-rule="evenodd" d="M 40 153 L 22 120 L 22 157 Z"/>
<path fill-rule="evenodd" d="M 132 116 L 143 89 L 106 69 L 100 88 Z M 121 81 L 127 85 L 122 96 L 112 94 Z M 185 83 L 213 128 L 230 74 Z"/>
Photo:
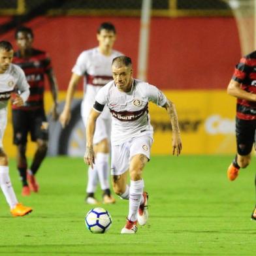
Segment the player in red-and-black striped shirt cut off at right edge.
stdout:
<path fill-rule="evenodd" d="M 229 180 L 237 178 L 240 168 L 248 167 L 251 150 L 256 139 L 256 51 L 240 59 L 227 93 L 236 97 L 236 150 L 237 153 L 227 170 Z M 256 185 L 256 180 L 255 180 Z M 256 208 L 251 219 L 256 220 Z"/>

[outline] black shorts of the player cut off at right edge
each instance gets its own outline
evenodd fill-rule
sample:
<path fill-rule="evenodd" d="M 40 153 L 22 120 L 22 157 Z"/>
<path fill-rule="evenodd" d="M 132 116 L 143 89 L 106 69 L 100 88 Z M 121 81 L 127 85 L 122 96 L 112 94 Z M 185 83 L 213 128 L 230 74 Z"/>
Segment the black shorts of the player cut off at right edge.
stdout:
<path fill-rule="evenodd" d="M 236 118 L 236 150 L 239 155 L 251 153 L 255 143 L 256 120 Z"/>

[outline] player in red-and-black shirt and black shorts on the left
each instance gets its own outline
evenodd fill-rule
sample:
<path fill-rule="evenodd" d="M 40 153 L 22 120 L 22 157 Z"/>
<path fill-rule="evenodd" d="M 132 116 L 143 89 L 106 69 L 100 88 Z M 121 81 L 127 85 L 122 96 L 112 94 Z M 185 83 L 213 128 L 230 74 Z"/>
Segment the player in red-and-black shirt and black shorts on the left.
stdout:
<path fill-rule="evenodd" d="M 17 168 L 22 180 L 22 195 L 37 193 L 39 184 L 35 174 L 48 149 L 48 121 L 44 112 L 44 76 L 48 78 L 54 101 L 52 118 L 57 120 L 57 82 L 48 54 L 33 48 L 33 31 L 29 27 L 19 27 L 15 32 L 18 51 L 14 53 L 13 63 L 25 72 L 30 85 L 30 95 L 24 106 L 12 105 L 13 142 L 17 146 Z M 37 150 L 29 168 L 25 155 L 27 135 L 37 143 Z"/>

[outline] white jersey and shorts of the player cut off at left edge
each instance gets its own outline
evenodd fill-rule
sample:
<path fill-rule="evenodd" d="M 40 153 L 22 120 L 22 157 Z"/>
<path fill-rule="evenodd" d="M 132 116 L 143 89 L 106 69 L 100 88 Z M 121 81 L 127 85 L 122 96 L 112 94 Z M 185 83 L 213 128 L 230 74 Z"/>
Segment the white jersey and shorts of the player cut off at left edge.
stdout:
<path fill-rule="evenodd" d="M 3 148 L 3 135 L 7 125 L 7 104 L 14 89 L 20 91 L 24 103 L 29 97 L 29 84 L 24 71 L 14 64 L 10 64 L 7 71 L 0 74 L 0 148 Z"/>

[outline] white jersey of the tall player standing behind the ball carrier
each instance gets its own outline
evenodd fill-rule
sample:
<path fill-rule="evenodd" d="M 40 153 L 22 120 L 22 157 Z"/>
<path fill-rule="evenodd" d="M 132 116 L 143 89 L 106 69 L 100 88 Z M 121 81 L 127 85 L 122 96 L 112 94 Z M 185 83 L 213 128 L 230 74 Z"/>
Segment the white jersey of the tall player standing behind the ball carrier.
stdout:
<path fill-rule="evenodd" d="M 96 47 L 86 50 L 78 56 L 72 72 L 78 76 L 84 76 L 84 99 L 82 103 L 82 116 L 84 118 L 88 117 L 99 89 L 113 79 L 112 59 L 120 55 L 122 55 L 120 52 L 112 50 L 110 56 L 104 56 Z M 104 109 L 101 118 L 110 118 L 107 109 Z"/>

